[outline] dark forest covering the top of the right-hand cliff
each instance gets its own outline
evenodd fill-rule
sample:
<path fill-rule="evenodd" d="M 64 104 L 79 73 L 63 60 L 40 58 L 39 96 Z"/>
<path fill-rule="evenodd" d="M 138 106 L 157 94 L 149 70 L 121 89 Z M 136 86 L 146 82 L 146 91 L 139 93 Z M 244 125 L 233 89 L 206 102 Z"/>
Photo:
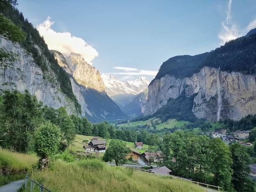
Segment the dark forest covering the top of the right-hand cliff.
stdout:
<path fill-rule="evenodd" d="M 214 67 L 222 71 L 239 71 L 244 74 L 256 72 L 256 33 L 226 42 L 221 47 L 195 56 L 175 56 L 160 67 L 156 79 L 166 74 L 176 78 L 191 77 L 202 67 Z M 189 67 L 188 67 L 189 66 Z M 150 85 L 153 84 L 151 81 Z"/>

